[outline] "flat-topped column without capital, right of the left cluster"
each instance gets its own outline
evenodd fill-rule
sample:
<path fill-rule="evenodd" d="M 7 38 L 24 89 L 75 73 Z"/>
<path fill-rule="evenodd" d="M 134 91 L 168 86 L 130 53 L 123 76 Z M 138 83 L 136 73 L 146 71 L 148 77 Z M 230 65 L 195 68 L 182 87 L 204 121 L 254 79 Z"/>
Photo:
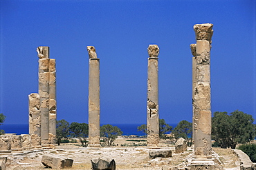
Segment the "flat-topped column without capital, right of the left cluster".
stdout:
<path fill-rule="evenodd" d="M 56 143 L 56 66 L 55 59 L 49 59 L 49 142 Z"/>

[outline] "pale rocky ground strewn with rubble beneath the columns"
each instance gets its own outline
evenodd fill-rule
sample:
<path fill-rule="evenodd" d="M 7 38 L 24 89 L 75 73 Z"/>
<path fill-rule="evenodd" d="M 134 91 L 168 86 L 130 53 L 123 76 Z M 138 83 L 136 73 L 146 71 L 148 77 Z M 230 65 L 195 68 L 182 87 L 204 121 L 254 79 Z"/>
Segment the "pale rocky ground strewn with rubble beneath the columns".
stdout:
<path fill-rule="evenodd" d="M 120 140 L 120 139 L 119 139 Z M 116 144 L 118 140 L 116 141 Z M 174 146 L 168 145 L 166 142 L 161 142 L 162 147 L 172 149 L 173 154 L 170 158 L 149 158 L 149 149 L 145 146 L 138 147 L 121 147 L 120 145 L 127 144 L 143 145 L 143 142 L 131 142 L 123 140 L 119 141 L 118 147 L 102 147 L 100 149 L 88 149 L 75 145 L 61 145 L 55 149 L 44 149 L 41 151 L 33 151 L 30 153 L 16 153 L 8 156 L 6 163 L 7 169 L 45 169 L 42 164 L 42 156 L 46 153 L 53 153 L 74 160 L 71 169 L 91 169 L 91 160 L 93 158 L 101 158 L 107 156 L 116 162 L 116 169 L 170 169 L 171 167 L 182 167 L 186 160 L 191 156 L 192 149 L 188 149 L 185 153 L 175 154 Z M 223 163 L 225 169 L 238 170 L 239 161 L 237 156 L 232 153 L 231 149 L 213 149 L 219 155 L 219 160 Z"/>

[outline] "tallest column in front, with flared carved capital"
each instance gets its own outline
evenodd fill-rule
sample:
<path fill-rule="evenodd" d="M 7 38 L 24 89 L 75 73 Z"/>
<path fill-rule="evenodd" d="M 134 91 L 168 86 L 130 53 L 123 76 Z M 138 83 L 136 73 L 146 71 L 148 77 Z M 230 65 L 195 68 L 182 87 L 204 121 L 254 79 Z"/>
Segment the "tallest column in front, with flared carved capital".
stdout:
<path fill-rule="evenodd" d="M 194 83 L 195 158 L 211 158 L 210 43 L 212 24 L 194 25 L 196 33 L 196 82 Z"/>

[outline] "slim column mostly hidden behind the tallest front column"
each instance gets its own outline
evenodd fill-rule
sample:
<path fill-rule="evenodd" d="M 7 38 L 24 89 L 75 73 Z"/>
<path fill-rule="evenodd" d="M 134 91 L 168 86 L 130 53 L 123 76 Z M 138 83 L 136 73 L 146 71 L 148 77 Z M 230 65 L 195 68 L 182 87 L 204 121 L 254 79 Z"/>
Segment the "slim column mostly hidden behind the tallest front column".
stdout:
<path fill-rule="evenodd" d="M 192 142 L 194 143 L 194 87 L 196 86 L 196 43 L 190 44 L 192 57 Z"/>

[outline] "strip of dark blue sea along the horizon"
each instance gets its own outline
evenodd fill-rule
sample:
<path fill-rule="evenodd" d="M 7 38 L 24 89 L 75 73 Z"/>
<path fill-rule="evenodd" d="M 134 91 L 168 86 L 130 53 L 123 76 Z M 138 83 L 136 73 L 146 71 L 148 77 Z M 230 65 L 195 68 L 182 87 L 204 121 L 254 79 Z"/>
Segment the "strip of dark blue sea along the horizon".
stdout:
<path fill-rule="evenodd" d="M 123 136 L 137 135 L 144 136 L 142 131 L 137 131 L 137 127 L 142 124 L 111 124 L 112 126 L 117 126 L 121 129 Z M 176 123 L 170 123 L 172 129 L 176 127 Z M 3 129 L 6 134 L 28 134 L 28 124 L 3 124 L 0 126 L 0 129 Z"/>

